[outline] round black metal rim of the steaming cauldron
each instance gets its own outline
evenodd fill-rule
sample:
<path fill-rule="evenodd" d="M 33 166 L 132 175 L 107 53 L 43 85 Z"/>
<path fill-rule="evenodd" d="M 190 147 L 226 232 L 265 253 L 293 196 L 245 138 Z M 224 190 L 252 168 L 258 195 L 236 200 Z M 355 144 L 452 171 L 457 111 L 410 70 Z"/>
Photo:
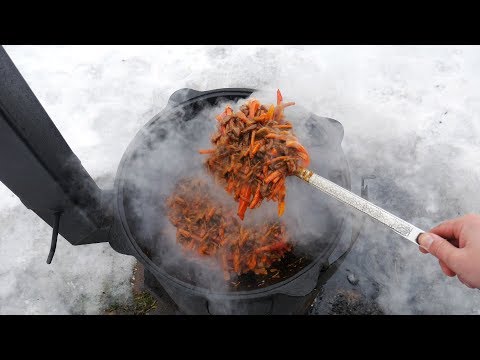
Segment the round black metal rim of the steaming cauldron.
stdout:
<path fill-rule="evenodd" d="M 268 293 L 278 293 L 279 289 L 285 288 L 288 286 L 289 283 L 293 282 L 294 280 L 298 279 L 299 277 L 305 275 L 305 273 L 312 270 L 313 267 L 319 267 L 323 264 L 319 263 L 321 257 L 317 257 L 313 259 L 309 264 L 303 267 L 301 270 L 285 278 L 284 280 L 274 283 L 272 285 L 268 285 L 262 288 L 256 288 L 251 290 L 241 290 L 241 291 L 213 291 L 209 290 L 205 287 L 196 286 L 180 280 L 179 278 L 169 274 L 166 270 L 164 270 L 161 266 L 157 265 L 154 261 L 152 261 L 145 252 L 141 249 L 140 245 L 138 244 L 135 236 L 132 234 L 130 227 L 128 225 L 127 216 L 125 213 L 125 206 L 124 206 L 124 185 L 126 177 L 124 176 L 124 170 L 128 167 L 127 164 L 131 159 L 131 155 L 133 154 L 134 150 L 138 146 L 138 141 L 142 139 L 145 135 L 145 129 L 148 129 L 157 121 L 161 121 L 162 118 L 168 118 L 168 115 L 173 114 L 175 110 L 178 110 L 181 107 L 185 107 L 191 105 L 196 102 L 205 101 L 210 98 L 227 98 L 227 97 L 237 97 L 237 98 L 247 98 L 250 96 L 255 89 L 249 88 L 220 88 L 220 89 L 213 89 L 209 91 L 199 92 L 196 90 L 191 89 L 180 89 L 172 94 L 169 99 L 169 103 L 167 106 L 161 110 L 158 114 L 156 114 L 151 120 L 149 120 L 142 128 L 137 132 L 135 137 L 132 139 L 130 144 L 128 145 L 127 149 L 125 150 L 120 164 L 117 169 L 117 174 L 115 177 L 115 192 L 114 192 L 114 213 L 115 213 L 115 220 L 119 220 L 120 227 L 124 233 L 124 237 L 127 239 L 128 245 L 130 246 L 130 255 L 134 256 L 136 259 L 140 260 L 146 268 L 151 271 L 155 276 L 164 278 L 167 281 L 174 283 L 176 286 L 184 288 L 184 290 L 191 291 L 196 294 L 203 294 L 208 295 L 211 298 L 234 298 L 234 299 L 246 299 L 246 298 L 255 298 L 259 295 L 265 296 Z M 183 99 L 182 99 L 183 98 Z M 178 99 L 178 100 L 177 100 Z M 343 138 L 343 127 L 342 125 L 334 119 L 326 118 L 328 120 L 334 121 L 338 123 L 342 132 L 341 138 Z M 340 150 L 343 152 L 343 149 Z M 345 161 L 346 166 L 346 184 L 344 184 L 347 188 L 350 188 L 350 172 L 348 163 Z M 342 236 L 343 230 L 345 229 L 345 219 L 342 220 L 341 225 L 339 227 L 339 231 L 335 234 L 335 239 L 331 242 L 331 250 L 334 251 L 335 246 L 338 243 L 339 238 Z M 330 265 L 330 264 L 329 264 Z M 281 291 L 280 291 L 281 292 Z"/>

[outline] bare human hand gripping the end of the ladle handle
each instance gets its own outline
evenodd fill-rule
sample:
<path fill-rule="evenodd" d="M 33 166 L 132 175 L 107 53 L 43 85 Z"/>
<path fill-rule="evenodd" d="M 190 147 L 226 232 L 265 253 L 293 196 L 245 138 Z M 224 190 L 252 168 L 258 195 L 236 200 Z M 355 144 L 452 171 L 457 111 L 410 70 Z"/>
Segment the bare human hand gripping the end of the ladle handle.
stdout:
<path fill-rule="evenodd" d="M 438 258 L 447 276 L 480 288 L 480 215 L 447 220 L 418 237 L 420 251 Z"/>

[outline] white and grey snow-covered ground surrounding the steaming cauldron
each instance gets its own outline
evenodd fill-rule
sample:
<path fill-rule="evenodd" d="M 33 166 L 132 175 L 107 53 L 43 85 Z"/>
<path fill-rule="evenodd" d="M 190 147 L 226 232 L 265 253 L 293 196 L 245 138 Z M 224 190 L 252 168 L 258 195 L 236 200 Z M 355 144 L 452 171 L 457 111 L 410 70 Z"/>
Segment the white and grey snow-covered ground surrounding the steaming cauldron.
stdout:
<path fill-rule="evenodd" d="M 477 46 L 5 46 L 73 151 L 111 187 L 136 131 L 172 92 L 190 87 L 282 89 L 344 125 L 354 190 L 428 229 L 480 212 Z M 384 229 L 357 244 L 383 286 L 386 312 L 478 313 L 480 293 Z M 133 258 L 60 239 L 0 183 L 0 313 L 101 312 L 130 296 Z M 362 274 L 360 274 L 362 276 Z"/>

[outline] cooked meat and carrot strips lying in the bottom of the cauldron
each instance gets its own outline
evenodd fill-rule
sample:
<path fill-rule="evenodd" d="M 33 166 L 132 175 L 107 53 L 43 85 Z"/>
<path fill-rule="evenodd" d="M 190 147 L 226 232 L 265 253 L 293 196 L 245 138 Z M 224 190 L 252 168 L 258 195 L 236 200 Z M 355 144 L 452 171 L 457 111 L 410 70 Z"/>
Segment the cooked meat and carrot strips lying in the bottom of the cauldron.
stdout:
<path fill-rule="evenodd" d="M 176 184 L 167 208 L 177 228 L 177 242 L 191 252 L 217 258 L 227 280 L 231 273 L 250 270 L 266 274 L 266 268 L 292 249 L 285 225 L 276 220 L 247 226 L 234 209 L 215 198 L 214 191 L 203 179 Z"/>

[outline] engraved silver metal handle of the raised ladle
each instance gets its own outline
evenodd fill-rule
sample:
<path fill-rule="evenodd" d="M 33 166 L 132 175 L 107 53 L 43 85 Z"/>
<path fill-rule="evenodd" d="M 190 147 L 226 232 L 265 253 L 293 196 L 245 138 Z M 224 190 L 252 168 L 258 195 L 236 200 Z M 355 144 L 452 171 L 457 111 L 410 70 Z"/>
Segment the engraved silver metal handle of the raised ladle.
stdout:
<path fill-rule="evenodd" d="M 360 210 L 361 212 L 371 216 L 382 224 L 388 226 L 397 234 L 403 236 L 405 239 L 410 240 L 415 245 L 418 245 L 417 238 L 425 231 L 420 230 L 416 226 L 400 219 L 399 217 L 389 213 L 386 210 L 372 204 L 370 201 L 344 189 L 343 187 L 331 182 L 330 180 L 315 174 L 308 169 L 299 170 L 296 175 L 308 182 L 310 185 L 315 186 L 324 193 L 334 197 L 335 199 L 350 205 L 351 207 Z"/>

